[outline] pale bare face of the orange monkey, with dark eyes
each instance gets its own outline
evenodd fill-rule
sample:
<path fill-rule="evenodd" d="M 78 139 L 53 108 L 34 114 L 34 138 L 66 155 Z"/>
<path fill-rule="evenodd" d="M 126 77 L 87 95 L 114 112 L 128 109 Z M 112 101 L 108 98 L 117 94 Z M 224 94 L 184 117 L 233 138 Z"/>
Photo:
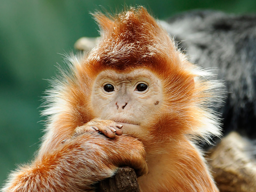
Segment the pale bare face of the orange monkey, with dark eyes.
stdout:
<path fill-rule="evenodd" d="M 91 103 L 97 118 L 123 125 L 123 133 L 140 134 L 159 116 L 163 100 L 161 81 L 150 70 L 122 73 L 104 70 L 93 84 Z M 144 130 L 145 131 L 145 130 Z"/>

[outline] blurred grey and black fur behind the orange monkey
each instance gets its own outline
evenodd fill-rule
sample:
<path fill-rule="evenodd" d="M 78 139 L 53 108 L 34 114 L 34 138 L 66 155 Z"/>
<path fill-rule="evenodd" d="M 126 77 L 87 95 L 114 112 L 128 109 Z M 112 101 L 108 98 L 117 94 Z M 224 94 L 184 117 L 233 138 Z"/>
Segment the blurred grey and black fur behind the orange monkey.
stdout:
<path fill-rule="evenodd" d="M 256 138 L 256 15 L 191 11 L 160 21 L 191 62 L 216 68 L 226 82 L 223 133 Z"/>

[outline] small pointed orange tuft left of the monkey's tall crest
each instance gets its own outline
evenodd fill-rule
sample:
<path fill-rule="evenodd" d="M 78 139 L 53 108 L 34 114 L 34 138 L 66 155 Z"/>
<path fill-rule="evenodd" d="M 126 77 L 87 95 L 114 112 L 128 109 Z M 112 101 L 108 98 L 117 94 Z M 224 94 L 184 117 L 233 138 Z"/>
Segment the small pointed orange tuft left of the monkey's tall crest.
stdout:
<path fill-rule="evenodd" d="M 106 15 L 102 14 L 101 12 L 96 12 L 92 14 L 94 16 L 94 19 L 98 23 L 101 31 L 108 31 L 109 29 L 112 29 L 115 25 L 114 21 L 110 18 L 108 18 Z"/>

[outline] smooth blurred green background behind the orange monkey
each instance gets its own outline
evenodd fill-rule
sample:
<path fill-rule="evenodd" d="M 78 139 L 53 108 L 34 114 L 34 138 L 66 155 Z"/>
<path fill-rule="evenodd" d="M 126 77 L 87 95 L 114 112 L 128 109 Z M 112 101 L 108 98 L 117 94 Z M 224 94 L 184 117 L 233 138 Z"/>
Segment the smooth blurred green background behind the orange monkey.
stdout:
<path fill-rule="evenodd" d="M 89 12 L 123 5 L 144 5 L 159 19 L 190 9 L 256 12 L 255 0 L 0 0 L 0 186 L 38 149 L 44 79 L 58 73 L 58 53 L 74 50 L 82 36 L 98 36 Z"/>

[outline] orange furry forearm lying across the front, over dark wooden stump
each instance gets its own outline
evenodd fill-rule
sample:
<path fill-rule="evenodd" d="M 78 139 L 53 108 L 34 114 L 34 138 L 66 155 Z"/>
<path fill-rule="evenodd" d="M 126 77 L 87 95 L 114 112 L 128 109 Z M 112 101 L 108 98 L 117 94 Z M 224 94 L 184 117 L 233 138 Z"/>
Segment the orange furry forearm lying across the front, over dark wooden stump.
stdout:
<path fill-rule="evenodd" d="M 146 173 L 145 156 L 143 145 L 133 137 L 108 139 L 86 132 L 11 174 L 2 191 L 93 191 L 91 185 L 112 176 L 118 166 Z"/>

